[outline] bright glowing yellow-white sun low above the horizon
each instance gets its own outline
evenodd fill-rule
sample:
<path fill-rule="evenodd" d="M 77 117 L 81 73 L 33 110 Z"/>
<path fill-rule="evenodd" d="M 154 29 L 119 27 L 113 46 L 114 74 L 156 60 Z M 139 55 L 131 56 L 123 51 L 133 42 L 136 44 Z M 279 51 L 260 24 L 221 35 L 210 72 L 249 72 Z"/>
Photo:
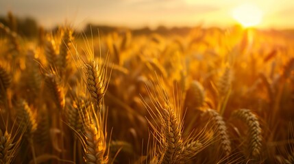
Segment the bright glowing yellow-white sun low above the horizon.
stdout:
<path fill-rule="evenodd" d="M 243 27 L 253 27 L 260 24 L 262 20 L 262 11 L 253 4 L 243 4 L 234 8 L 232 16 Z"/>

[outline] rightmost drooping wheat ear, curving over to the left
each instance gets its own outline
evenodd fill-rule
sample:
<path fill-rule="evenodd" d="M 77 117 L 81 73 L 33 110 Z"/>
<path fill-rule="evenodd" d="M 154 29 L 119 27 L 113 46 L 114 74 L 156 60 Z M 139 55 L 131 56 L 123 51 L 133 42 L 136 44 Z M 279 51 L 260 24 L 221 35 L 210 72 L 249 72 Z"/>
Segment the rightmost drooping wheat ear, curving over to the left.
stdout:
<path fill-rule="evenodd" d="M 256 158 L 260 155 L 262 147 L 262 134 L 258 118 L 249 109 L 239 109 L 232 113 L 232 116 L 245 122 L 248 126 L 247 141 L 249 154 Z"/>

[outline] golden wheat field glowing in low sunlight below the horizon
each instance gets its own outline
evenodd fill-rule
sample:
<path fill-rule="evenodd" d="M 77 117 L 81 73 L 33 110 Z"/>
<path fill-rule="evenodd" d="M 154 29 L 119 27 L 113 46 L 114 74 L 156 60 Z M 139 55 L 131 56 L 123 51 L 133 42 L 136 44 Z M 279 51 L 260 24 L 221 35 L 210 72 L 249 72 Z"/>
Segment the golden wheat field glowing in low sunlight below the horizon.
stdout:
<path fill-rule="evenodd" d="M 294 163 L 291 31 L 16 29 L 0 24 L 0 163 Z"/>

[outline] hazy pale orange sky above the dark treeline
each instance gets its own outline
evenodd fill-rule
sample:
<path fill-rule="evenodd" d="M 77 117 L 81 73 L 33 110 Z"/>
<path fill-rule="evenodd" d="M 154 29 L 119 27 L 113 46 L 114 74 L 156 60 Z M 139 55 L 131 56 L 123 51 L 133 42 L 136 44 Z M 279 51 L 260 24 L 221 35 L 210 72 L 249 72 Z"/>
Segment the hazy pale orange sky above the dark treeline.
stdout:
<path fill-rule="evenodd" d="M 40 25 L 53 27 L 85 23 L 127 27 L 193 26 L 201 23 L 230 25 L 232 10 L 251 2 L 264 12 L 260 27 L 294 27 L 294 0 L 0 0 L 0 14 L 32 16 Z"/>

